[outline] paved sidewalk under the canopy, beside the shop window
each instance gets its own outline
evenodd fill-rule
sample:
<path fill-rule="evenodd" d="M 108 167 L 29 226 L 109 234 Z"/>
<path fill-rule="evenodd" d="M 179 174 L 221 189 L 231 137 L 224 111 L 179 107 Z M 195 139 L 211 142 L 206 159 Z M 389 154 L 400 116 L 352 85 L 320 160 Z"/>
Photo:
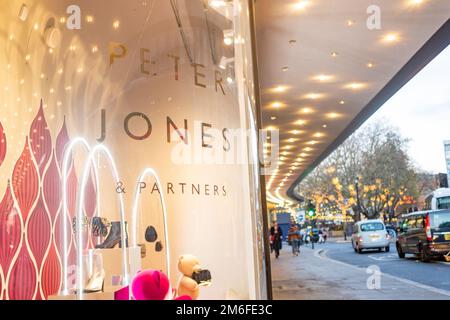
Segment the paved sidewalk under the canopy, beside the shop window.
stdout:
<path fill-rule="evenodd" d="M 272 286 L 278 300 L 450 300 L 450 292 L 381 275 L 380 289 L 368 289 L 372 276 L 366 269 L 327 258 L 320 248 L 301 246 L 293 257 L 283 246 L 280 257 L 272 255 Z"/>

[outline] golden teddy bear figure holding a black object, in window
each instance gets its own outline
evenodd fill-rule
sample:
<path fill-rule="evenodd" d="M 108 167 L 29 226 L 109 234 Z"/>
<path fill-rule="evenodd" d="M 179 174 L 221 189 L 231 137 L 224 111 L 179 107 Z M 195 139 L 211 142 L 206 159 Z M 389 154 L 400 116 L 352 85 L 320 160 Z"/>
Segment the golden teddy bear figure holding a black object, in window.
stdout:
<path fill-rule="evenodd" d="M 211 273 L 203 269 L 193 255 L 185 254 L 178 258 L 178 270 L 182 273 L 177 292 L 179 296 L 187 295 L 196 300 L 200 287 L 211 284 Z"/>

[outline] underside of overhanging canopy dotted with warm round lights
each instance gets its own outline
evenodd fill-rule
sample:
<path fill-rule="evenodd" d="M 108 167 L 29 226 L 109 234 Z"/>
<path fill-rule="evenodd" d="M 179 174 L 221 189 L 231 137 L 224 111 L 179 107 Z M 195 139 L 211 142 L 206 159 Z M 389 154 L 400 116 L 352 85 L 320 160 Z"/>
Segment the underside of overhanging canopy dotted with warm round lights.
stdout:
<path fill-rule="evenodd" d="M 256 1 L 263 124 L 280 134 L 269 201 L 290 202 L 288 189 L 361 124 L 365 107 L 380 107 L 374 98 L 450 18 L 448 0 L 379 0 L 381 28 L 371 30 L 373 4 Z"/>

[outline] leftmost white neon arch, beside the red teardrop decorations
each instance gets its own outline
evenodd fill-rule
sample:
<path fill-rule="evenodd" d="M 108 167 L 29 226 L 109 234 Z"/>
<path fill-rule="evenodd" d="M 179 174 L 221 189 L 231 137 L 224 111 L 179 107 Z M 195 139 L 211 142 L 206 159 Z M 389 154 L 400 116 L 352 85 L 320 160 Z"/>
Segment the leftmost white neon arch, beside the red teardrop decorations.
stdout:
<path fill-rule="evenodd" d="M 67 203 L 67 175 L 69 173 L 69 160 L 70 157 L 73 155 L 73 149 L 77 146 L 81 145 L 84 147 L 84 149 L 90 153 L 91 147 L 89 146 L 89 143 L 84 138 L 75 138 L 73 139 L 69 145 L 64 149 L 64 157 L 63 157 L 63 167 L 62 167 L 62 193 L 63 193 L 63 290 L 62 294 L 67 295 L 69 294 L 69 288 L 68 288 L 68 251 L 69 251 L 69 245 L 68 245 L 68 232 L 67 232 L 67 217 L 68 217 L 68 203 Z M 95 164 L 95 163 L 93 163 Z M 99 188 L 99 178 L 98 178 L 98 171 L 97 167 L 93 165 L 94 168 L 94 176 L 95 176 L 95 182 L 97 185 L 97 213 L 100 212 L 100 188 Z"/>

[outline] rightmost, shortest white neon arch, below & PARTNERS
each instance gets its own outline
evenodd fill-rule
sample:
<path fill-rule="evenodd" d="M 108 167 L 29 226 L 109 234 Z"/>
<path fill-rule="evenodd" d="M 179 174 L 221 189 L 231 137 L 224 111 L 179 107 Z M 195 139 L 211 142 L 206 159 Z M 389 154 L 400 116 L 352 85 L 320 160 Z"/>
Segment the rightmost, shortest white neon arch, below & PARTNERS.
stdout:
<path fill-rule="evenodd" d="M 166 209 L 166 202 L 164 201 L 164 195 L 163 195 L 163 188 L 161 185 L 161 181 L 159 180 L 158 174 L 156 171 L 152 168 L 146 168 L 141 175 L 139 176 L 139 179 L 136 183 L 136 190 L 134 194 L 134 201 L 133 201 L 133 211 L 132 211 L 132 227 L 131 227 L 131 245 L 132 247 L 137 247 L 137 213 L 139 208 L 139 200 L 141 198 L 141 183 L 144 182 L 144 179 L 148 175 L 153 175 L 153 177 L 156 180 L 156 184 L 158 185 L 159 189 L 159 199 L 161 201 L 161 206 L 163 209 L 163 219 L 164 219 L 164 241 L 165 247 L 166 247 L 166 268 L 167 268 L 167 277 L 170 279 L 170 250 L 169 250 L 169 235 L 167 231 L 167 209 Z"/>

